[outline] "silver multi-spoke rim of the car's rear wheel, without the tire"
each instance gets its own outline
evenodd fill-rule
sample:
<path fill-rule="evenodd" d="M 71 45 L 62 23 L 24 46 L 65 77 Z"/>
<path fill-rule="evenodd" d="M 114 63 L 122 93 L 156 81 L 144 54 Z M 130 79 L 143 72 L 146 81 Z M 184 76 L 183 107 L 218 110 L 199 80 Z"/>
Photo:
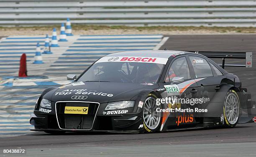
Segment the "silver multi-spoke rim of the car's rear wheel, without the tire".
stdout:
<path fill-rule="evenodd" d="M 234 93 L 230 93 L 225 100 L 225 114 L 230 124 L 235 124 L 239 117 L 239 102 Z"/>

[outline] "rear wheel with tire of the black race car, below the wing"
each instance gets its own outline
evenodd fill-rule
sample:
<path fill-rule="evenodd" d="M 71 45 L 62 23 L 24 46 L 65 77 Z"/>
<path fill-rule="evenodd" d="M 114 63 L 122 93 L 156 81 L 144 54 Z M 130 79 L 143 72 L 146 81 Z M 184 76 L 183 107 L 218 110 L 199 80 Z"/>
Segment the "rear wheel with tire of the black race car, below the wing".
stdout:
<path fill-rule="evenodd" d="M 240 101 L 235 90 L 229 90 L 223 104 L 224 127 L 235 127 L 240 114 Z"/>

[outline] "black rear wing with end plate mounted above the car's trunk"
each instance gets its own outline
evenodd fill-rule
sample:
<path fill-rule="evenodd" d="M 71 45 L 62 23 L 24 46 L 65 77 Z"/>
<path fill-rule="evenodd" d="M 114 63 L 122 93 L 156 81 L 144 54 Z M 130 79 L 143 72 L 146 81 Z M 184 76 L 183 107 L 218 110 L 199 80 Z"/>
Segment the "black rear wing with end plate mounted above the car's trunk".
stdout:
<path fill-rule="evenodd" d="M 208 58 L 222 58 L 222 64 L 219 64 L 223 69 L 224 67 L 252 67 L 252 52 L 211 52 L 211 51 L 187 51 L 204 55 Z M 245 64 L 225 64 L 226 58 L 232 59 L 245 59 Z"/>

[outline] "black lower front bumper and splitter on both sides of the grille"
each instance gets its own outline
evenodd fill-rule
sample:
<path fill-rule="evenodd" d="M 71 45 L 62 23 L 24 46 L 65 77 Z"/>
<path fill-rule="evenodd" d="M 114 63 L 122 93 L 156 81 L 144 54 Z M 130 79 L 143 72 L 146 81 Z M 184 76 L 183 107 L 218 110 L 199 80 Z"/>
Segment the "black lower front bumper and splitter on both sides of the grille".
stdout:
<path fill-rule="evenodd" d="M 102 116 L 96 115 L 95 121 L 91 129 L 63 129 L 59 127 L 56 115 L 51 114 L 31 114 L 30 124 L 34 125 L 32 131 L 99 131 L 99 132 L 140 132 L 143 128 L 139 126 L 143 124 L 143 120 L 138 114 L 118 115 L 118 116 Z"/>

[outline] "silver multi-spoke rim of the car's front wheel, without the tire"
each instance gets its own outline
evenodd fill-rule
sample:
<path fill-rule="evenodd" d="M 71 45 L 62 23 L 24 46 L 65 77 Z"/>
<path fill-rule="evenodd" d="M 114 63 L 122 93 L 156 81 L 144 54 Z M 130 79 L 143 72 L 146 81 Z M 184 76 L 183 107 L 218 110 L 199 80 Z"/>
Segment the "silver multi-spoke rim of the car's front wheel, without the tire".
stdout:
<path fill-rule="evenodd" d="M 158 108 L 156 105 L 156 99 L 148 97 L 143 107 L 143 120 L 145 125 L 151 130 L 156 129 L 160 123 L 161 113 L 156 112 L 156 108 Z"/>

